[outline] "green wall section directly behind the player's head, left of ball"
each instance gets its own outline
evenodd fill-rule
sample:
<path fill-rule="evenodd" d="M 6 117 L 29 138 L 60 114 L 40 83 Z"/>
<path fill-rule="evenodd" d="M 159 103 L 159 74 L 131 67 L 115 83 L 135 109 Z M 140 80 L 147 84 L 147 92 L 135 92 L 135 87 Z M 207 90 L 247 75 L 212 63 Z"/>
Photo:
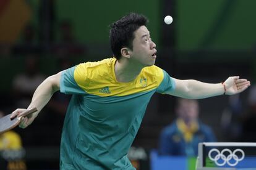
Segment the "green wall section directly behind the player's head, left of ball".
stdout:
<path fill-rule="evenodd" d="M 75 36 L 85 43 L 108 43 L 108 25 L 129 12 L 144 14 L 150 20 L 148 29 L 154 41 L 159 41 L 160 1 L 56 1 L 58 21 L 70 19 Z"/>

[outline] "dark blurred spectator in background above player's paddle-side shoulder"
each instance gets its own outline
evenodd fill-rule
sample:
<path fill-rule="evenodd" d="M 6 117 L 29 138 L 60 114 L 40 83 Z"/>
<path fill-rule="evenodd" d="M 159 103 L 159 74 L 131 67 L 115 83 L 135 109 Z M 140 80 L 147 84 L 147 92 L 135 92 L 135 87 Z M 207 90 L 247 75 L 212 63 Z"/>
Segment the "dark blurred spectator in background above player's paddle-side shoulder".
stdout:
<path fill-rule="evenodd" d="M 58 57 L 72 57 L 85 54 L 85 47 L 76 41 L 70 22 L 64 21 L 59 26 L 60 42 L 53 48 Z"/>

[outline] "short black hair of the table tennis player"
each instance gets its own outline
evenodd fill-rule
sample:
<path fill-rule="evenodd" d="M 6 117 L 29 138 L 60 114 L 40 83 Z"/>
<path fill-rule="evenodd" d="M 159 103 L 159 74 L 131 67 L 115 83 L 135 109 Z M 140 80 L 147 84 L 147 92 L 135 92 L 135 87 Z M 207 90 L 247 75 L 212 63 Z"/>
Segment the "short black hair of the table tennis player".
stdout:
<path fill-rule="evenodd" d="M 116 59 L 121 58 L 121 49 L 129 47 L 132 49 L 134 31 L 140 26 L 147 25 L 148 19 L 144 15 L 129 13 L 110 25 L 109 41 L 112 52 Z"/>

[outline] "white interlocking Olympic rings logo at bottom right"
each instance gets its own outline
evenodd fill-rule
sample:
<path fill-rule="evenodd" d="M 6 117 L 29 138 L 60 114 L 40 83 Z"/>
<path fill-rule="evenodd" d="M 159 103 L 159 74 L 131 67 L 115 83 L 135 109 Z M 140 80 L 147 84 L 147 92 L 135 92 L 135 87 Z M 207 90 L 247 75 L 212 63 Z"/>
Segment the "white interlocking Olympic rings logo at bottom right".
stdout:
<path fill-rule="evenodd" d="M 214 158 L 212 156 L 212 153 L 217 153 Z M 225 152 L 228 152 L 228 155 L 224 155 Z M 241 153 L 241 157 L 236 155 L 237 152 Z M 228 148 L 223 149 L 221 152 L 220 150 L 213 148 L 210 150 L 208 153 L 208 157 L 210 158 L 211 161 L 214 161 L 217 166 L 224 166 L 224 164 L 228 164 L 229 166 L 236 166 L 239 161 L 244 160 L 244 151 L 241 149 L 236 149 L 233 152 L 229 150 Z M 221 163 L 219 160 L 222 160 Z M 234 163 L 231 162 L 231 160 L 234 160 Z"/>

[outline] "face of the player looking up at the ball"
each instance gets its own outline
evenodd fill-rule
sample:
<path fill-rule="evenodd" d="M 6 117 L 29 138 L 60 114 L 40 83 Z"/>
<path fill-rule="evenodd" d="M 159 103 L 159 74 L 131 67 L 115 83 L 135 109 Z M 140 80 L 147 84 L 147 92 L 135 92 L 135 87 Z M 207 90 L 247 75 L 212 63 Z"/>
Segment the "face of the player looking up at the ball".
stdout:
<path fill-rule="evenodd" d="M 146 26 L 140 26 L 134 32 L 133 50 L 130 51 L 130 61 L 139 63 L 142 67 L 155 64 L 156 44 L 150 38 L 150 32 Z"/>

